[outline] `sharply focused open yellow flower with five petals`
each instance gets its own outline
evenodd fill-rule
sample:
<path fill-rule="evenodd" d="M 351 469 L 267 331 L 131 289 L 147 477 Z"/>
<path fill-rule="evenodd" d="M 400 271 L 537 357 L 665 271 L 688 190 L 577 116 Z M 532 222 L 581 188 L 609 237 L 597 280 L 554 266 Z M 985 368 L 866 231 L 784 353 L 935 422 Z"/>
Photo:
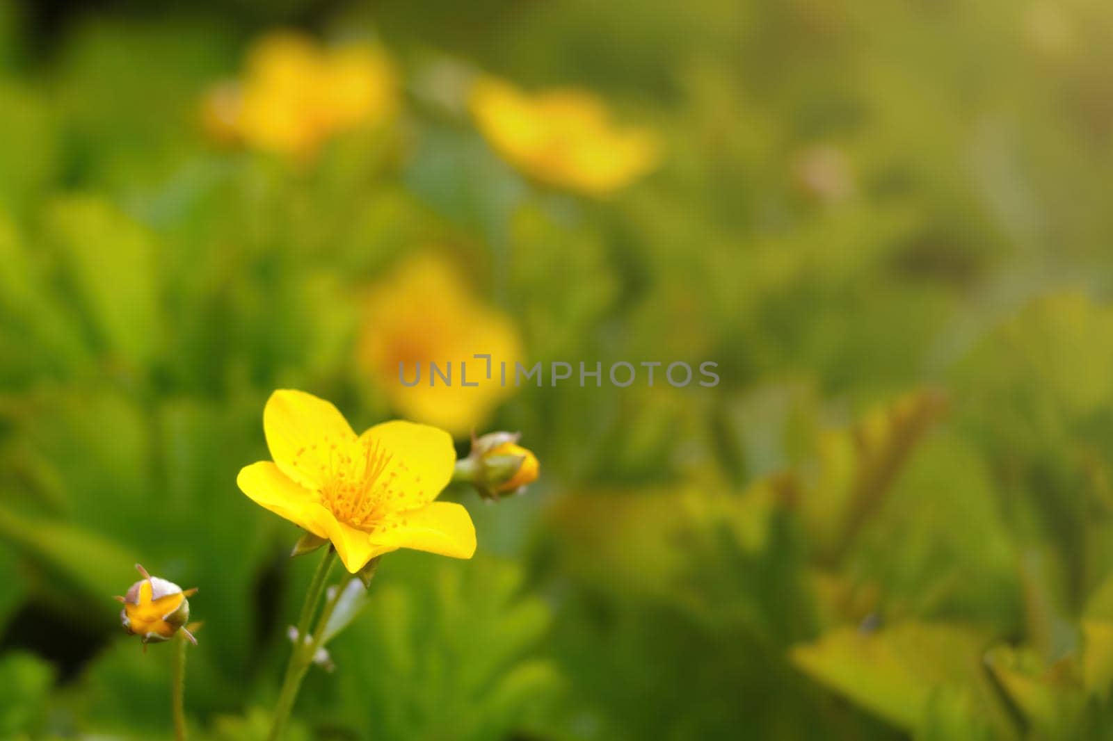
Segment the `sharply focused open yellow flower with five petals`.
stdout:
<path fill-rule="evenodd" d="M 475 552 L 467 511 L 434 502 L 456 458 L 446 432 L 394 421 L 356 435 L 335 406 L 298 391 L 272 394 L 263 429 L 274 462 L 244 467 L 239 488 L 332 541 L 353 574 L 397 549 L 456 559 Z"/>

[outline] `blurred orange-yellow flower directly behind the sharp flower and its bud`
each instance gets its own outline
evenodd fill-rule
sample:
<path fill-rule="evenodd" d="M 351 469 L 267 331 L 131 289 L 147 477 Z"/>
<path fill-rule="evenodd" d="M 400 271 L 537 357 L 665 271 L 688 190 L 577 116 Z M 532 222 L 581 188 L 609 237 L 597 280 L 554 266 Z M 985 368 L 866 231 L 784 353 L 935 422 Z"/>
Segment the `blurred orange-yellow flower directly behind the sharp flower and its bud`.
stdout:
<path fill-rule="evenodd" d="M 406 417 L 466 434 L 514 391 L 521 340 L 513 322 L 481 304 L 440 255 L 410 258 L 374 286 L 363 327 L 359 364 Z M 476 354 L 491 355 L 490 377 Z M 441 373 L 451 364 L 451 385 L 431 363 Z"/>

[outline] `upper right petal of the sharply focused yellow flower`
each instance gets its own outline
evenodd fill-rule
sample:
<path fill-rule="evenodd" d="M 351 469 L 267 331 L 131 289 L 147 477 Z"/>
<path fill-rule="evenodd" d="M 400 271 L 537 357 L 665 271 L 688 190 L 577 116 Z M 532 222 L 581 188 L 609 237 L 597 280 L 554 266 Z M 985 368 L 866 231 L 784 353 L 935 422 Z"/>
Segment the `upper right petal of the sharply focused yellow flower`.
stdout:
<path fill-rule="evenodd" d="M 436 498 L 456 465 L 452 436 L 443 429 L 395 419 L 377 424 L 359 437 L 359 443 L 378 445 L 390 457 L 384 475 L 401 507 L 414 508 Z M 400 507 L 400 508 L 401 508 Z"/>

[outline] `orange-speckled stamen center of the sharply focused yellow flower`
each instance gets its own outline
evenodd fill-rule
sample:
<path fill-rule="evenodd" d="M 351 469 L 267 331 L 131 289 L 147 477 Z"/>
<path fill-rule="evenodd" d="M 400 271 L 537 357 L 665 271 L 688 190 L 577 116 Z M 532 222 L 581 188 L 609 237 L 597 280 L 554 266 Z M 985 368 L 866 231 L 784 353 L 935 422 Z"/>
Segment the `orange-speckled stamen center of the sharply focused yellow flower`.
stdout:
<path fill-rule="evenodd" d="M 356 455 L 335 443 L 329 445 L 329 470 L 319 490 L 322 504 L 343 523 L 374 530 L 390 512 L 390 498 L 397 495 L 394 488 L 397 472 L 387 472 L 394 456 L 378 441 L 361 442 L 363 449 Z M 401 463 L 397 467 L 405 470 Z"/>

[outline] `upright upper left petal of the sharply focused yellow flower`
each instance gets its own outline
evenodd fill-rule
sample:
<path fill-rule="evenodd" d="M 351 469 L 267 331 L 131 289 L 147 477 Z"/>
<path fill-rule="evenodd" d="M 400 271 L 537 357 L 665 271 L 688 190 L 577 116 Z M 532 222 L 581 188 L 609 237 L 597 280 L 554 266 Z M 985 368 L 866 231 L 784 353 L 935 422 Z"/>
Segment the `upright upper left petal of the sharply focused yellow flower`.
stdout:
<path fill-rule="evenodd" d="M 334 471 L 337 455 L 351 454 L 356 441 L 335 406 L 290 389 L 276 391 L 267 399 L 263 432 L 278 468 L 311 491 L 321 488 Z"/>

